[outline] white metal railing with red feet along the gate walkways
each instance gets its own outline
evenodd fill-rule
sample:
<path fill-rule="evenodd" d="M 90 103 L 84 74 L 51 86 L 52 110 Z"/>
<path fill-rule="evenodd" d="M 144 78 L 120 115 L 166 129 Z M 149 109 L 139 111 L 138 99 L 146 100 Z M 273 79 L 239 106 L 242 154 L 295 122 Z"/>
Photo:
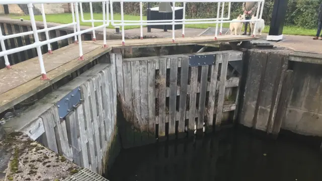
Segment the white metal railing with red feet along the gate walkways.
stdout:
<path fill-rule="evenodd" d="M 94 2 L 100 2 L 102 3 L 102 9 L 103 9 L 103 18 L 102 20 L 95 20 L 93 16 L 93 7 L 92 3 Z M 124 3 L 129 3 L 129 2 L 138 2 L 139 3 L 139 9 L 140 9 L 140 20 L 125 20 L 124 19 L 124 10 L 123 10 L 123 4 Z M 175 12 L 176 3 L 183 3 L 183 19 L 175 19 L 175 14 L 173 13 L 172 20 L 143 20 L 143 10 L 142 10 L 142 3 L 146 2 L 168 2 L 168 3 L 173 3 L 172 10 Z M 257 20 L 241 20 L 241 21 L 232 21 L 230 20 L 230 7 L 232 2 L 238 2 L 238 3 L 243 3 L 243 2 L 258 2 L 258 8 L 256 12 L 256 17 Z M 65 24 L 65 25 L 59 25 L 55 27 L 48 28 L 47 27 L 47 22 L 46 22 L 46 16 L 45 16 L 45 11 L 44 11 L 44 6 L 43 4 L 47 3 L 70 3 L 71 4 L 71 14 L 72 14 L 72 23 Z M 82 3 L 90 3 L 90 14 L 91 14 L 91 19 L 90 20 L 85 20 L 84 19 L 84 13 L 83 13 L 83 7 Z M 121 20 L 114 20 L 113 16 L 113 3 L 120 3 L 121 7 Z M 208 19 L 186 19 L 186 3 L 218 3 L 217 5 L 217 15 L 216 18 L 208 18 Z M 227 9 L 227 17 L 224 17 L 225 14 L 225 3 L 228 3 L 228 9 Z M 47 80 L 49 79 L 46 75 L 45 67 L 44 67 L 44 62 L 42 58 L 42 52 L 41 52 L 41 46 L 46 45 L 48 46 L 48 53 L 51 54 L 51 46 L 50 43 L 57 42 L 63 39 L 71 38 L 74 37 L 75 44 L 78 44 L 79 48 L 79 60 L 84 60 L 84 54 L 83 54 L 83 49 L 82 49 L 82 38 L 81 35 L 87 32 L 93 32 L 93 41 L 96 41 L 96 35 L 95 35 L 95 30 L 103 28 L 103 48 L 108 47 L 108 44 L 106 42 L 106 27 L 108 27 L 111 23 L 112 26 L 121 26 L 122 27 L 122 45 L 125 45 L 125 33 L 124 33 L 124 27 L 125 26 L 140 26 L 140 38 L 143 39 L 143 26 L 146 25 L 172 25 L 172 42 L 175 42 L 175 25 L 182 25 L 182 37 L 185 36 L 185 25 L 187 24 L 216 24 L 216 32 L 214 35 L 214 40 L 217 40 L 217 31 L 219 29 L 219 35 L 221 35 L 222 32 L 222 25 L 223 23 L 231 23 L 231 22 L 256 22 L 255 23 L 255 28 L 253 30 L 253 36 L 256 35 L 256 26 L 257 22 L 262 18 L 263 14 L 263 9 L 264 9 L 264 3 L 265 0 L 11 0 L 9 2 L 2 2 L 0 1 L 0 5 L 3 4 L 27 4 L 28 6 L 28 11 L 29 11 L 29 16 L 30 16 L 30 22 L 32 25 L 32 31 L 29 32 L 23 32 L 23 33 L 18 33 L 18 34 L 13 34 L 13 35 L 6 35 L 4 36 L 1 32 L 0 29 L 0 45 L 2 47 L 2 52 L 0 52 L 0 57 L 4 56 L 5 59 L 5 65 L 8 69 L 11 68 L 11 65 L 8 60 L 8 55 L 25 51 L 28 49 L 36 48 L 37 49 L 37 54 L 38 54 L 38 59 L 39 59 L 39 65 L 40 65 L 40 70 L 41 70 L 41 79 L 42 80 Z M 43 18 L 43 24 L 44 24 L 44 29 L 37 30 L 36 27 L 36 21 L 33 13 L 33 4 L 41 4 L 41 13 L 42 13 L 42 18 Z M 78 4 L 79 4 L 79 10 L 78 10 Z M 109 12 L 109 5 L 110 5 L 110 10 Z M 220 9 L 221 8 L 221 9 Z M 220 11 L 221 10 L 221 11 Z M 86 30 L 81 30 L 80 26 L 80 21 L 79 21 L 79 15 L 78 12 L 81 13 L 81 21 L 82 22 L 91 22 L 92 28 L 86 29 Z M 111 18 L 110 18 L 111 16 Z M 94 23 L 95 22 L 101 22 L 102 25 L 95 27 Z M 220 28 L 218 27 L 220 24 Z M 56 37 L 50 39 L 49 37 L 49 31 L 52 30 L 57 30 L 60 28 L 64 27 L 69 27 L 72 26 L 74 33 L 67 34 L 64 36 Z M 46 35 L 46 40 L 45 41 L 39 41 L 38 33 L 45 32 Z M 10 50 L 6 50 L 5 43 L 4 41 L 10 38 L 17 38 L 21 36 L 26 36 L 26 35 L 34 35 L 35 43 L 18 47 L 18 48 L 13 48 Z"/>

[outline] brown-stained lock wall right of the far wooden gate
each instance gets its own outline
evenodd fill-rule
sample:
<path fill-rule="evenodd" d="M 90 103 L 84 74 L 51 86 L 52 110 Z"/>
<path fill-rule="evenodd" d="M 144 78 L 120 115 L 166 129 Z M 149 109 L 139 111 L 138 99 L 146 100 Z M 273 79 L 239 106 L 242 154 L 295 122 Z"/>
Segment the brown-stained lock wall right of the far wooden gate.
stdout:
<path fill-rule="evenodd" d="M 240 124 L 274 135 L 285 129 L 322 136 L 322 65 L 290 61 L 290 53 L 249 50 Z"/>

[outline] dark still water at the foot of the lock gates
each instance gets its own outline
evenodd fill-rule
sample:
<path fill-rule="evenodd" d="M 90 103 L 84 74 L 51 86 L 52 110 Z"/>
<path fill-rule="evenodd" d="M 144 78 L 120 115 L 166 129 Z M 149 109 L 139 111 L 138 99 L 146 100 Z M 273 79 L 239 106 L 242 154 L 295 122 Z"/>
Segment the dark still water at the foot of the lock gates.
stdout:
<path fill-rule="evenodd" d="M 322 180 L 322 156 L 281 138 L 264 141 L 240 130 L 122 150 L 110 181 Z"/>

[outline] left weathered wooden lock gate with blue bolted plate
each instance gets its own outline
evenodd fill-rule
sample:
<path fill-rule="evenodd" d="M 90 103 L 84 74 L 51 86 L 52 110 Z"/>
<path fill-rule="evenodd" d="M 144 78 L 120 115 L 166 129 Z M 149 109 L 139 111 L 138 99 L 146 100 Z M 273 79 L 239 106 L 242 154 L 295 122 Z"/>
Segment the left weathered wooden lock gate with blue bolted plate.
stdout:
<path fill-rule="evenodd" d="M 22 131 L 77 165 L 106 173 L 120 149 L 116 100 L 115 63 L 99 63 L 29 107 L 5 129 Z"/>

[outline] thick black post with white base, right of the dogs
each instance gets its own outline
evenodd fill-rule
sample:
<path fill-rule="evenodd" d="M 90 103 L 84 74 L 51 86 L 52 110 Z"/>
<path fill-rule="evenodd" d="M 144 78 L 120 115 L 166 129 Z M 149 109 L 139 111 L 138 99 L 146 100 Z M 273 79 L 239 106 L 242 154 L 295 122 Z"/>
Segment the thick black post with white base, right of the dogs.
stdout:
<path fill-rule="evenodd" d="M 288 0 L 274 0 L 272 21 L 267 36 L 269 41 L 280 41 L 283 39 L 283 27 L 287 11 Z"/>

